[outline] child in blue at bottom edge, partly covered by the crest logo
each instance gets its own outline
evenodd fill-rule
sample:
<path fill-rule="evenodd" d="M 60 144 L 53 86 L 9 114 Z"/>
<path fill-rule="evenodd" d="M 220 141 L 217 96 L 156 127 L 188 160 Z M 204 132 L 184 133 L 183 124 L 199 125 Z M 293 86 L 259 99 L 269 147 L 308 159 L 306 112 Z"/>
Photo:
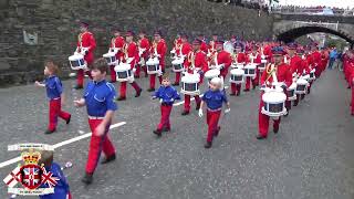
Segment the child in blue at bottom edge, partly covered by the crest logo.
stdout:
<path fill-rule="evenodd" d="M 53 161 L 53 151 L 50 150 L 43 150 L 41 153 L 41 159 L 39 161 L 39 165 L 42 166 L 42 164 L 45 167 L 45 170 L 49 172 L 52 172 L 53 176 L 58 178 L 56 185 L 54 186 L 54 193 L 50 195 L 42 195 L 40 196 L 40 199 L 71 199 L 71 193 L 69 189 L 69 184 L 65 179 L 65 176 L 60 167 L 59 164 Z M 41 188 L 49 188 L 46 184 L 41 185 Z"/>

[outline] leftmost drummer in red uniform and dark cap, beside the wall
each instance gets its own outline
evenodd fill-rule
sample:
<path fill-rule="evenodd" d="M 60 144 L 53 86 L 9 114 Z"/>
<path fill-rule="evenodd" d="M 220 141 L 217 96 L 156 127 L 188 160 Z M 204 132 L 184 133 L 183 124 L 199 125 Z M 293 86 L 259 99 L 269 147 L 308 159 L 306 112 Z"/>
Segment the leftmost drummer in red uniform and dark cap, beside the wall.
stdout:
<path fill-rule="evenodd" d="M 94 56 L 93 51 L 96 49 L 96 41 L 93 36 L 93 33 L 88 31 L 88 23 L 87 22 L 81 22 L 80 24 L 80 34 L 77 36 L 77 48 L 76 52 L 84 53 L 84 60 L 87 63 L 87 67 L 90 70 Z M 86 71 L 86 74 L 91 77 L 91 72 Z M 84 70 L 77 70 L 77 84 L 74 88 L 81 90 L 84 85 Z"/>

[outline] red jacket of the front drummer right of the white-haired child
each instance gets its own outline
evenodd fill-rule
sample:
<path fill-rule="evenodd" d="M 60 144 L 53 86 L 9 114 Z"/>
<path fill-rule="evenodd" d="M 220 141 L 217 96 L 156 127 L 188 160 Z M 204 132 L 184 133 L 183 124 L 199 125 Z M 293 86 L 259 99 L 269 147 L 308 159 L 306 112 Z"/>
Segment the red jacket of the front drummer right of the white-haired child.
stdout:
<path fill-rule="evenodd" d="M 270 66 L 271 66 L 271 64 L 268 64 L 266 70 L 262 73 L 261 85 L 266 84 L 266 82 L 269 82 L 269 86 L 270 86 L 271 83 L 273 82 L 273 77 L 269 76 L 269 74 L 267 73 L 267 71 L 270 70 Z M 281 63 L 280 65 L 278 65 L 275 67 L 277 67 L 278 82 L 283 82 L 289 87 L 292 84 L 292 75 L 289 71 L 289 65 Z"/>

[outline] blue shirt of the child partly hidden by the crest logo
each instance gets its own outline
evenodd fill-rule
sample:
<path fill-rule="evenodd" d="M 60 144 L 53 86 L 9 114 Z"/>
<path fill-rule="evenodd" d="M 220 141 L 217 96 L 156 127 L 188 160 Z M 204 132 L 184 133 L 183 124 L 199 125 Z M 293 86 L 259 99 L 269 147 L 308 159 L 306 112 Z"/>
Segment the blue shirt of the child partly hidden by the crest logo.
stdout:
<path fill-rule="evenodd" d="M 40 199 L 66 199 L 66 195 L 69 193 L 69 185 L 60 166 L 56 163 L 52 163 L 50 168 L 45 167 L 45 170 L 48 172 L 51 171 L 53 177 L 59 178 L 59 181 L 56 181 L 58 184 L 54 187 L 54 193 L 42 195 L 40 196 Z M 49 186 L 44 184 L 41 185 L 41 188 L 49 188 Z"/>

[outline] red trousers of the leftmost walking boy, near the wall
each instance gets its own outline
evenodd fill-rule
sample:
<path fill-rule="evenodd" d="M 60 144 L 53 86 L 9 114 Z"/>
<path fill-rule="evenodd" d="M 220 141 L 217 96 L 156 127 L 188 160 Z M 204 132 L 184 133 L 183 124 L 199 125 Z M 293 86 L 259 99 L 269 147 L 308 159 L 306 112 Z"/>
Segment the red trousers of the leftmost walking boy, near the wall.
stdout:
<path fill-rule="evenodd" d="M 58 117 L 64 121 L 67 121 L 70 117 L 70 113 L 62 111 L 61 98 L 51 100 L 49 102 L 49 130 L 54 130 L 56 128 Z"/>

